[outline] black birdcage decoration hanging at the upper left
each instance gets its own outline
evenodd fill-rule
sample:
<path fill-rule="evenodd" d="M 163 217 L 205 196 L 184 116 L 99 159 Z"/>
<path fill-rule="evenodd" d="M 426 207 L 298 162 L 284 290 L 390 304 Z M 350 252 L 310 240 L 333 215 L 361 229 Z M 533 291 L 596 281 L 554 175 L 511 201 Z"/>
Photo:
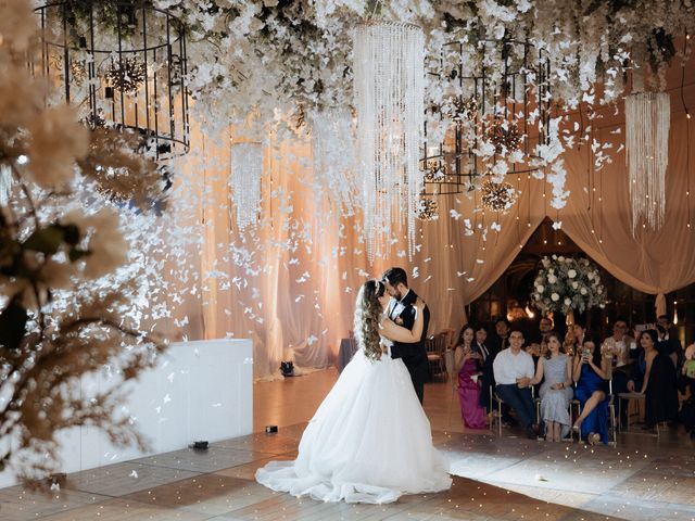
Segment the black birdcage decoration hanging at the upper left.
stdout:
<path fill-rule="evenodd" d="M 51 86 L 49 102 L 77 106 L 91 128 L 139 135 L 140 150 L 159 161 L 189 151 L 186 37 L 176 16 L 137 0 L 68 0 L 35 12 L 41 52 L 33 66 Z"/>

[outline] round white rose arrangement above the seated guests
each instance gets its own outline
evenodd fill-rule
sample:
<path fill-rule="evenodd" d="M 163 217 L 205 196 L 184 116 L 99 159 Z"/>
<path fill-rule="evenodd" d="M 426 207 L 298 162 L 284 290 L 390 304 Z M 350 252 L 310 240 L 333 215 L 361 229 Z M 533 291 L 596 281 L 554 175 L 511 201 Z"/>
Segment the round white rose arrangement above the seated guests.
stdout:
<path fill-rule="evenodd" d="M 598 267 L 586 258 L 553 255 L 541 259 L 542 268 L 533 281 L 531 298 L 543 313 L 583 313 L 605 307 L 606 289 Z"/>

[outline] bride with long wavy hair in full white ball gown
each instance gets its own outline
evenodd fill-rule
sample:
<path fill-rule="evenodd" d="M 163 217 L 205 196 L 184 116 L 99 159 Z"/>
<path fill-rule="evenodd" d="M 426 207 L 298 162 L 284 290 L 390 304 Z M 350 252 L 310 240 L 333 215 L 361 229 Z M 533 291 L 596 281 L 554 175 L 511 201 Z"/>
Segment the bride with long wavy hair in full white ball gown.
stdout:
<path fill-rule="evenodd" d="M 308 422 L 294 461 L 271 461 L 258 483 L 321 501 L 391 503 L 403 494 L 451 487 L 446 461 L 432 446 L 430 422 L 392 341 L 417 342 L 424 302 L 413 331 L 383 310 L 389 297 L 378 280 L 361 288 L 355 309 L 359 350 Z"/>

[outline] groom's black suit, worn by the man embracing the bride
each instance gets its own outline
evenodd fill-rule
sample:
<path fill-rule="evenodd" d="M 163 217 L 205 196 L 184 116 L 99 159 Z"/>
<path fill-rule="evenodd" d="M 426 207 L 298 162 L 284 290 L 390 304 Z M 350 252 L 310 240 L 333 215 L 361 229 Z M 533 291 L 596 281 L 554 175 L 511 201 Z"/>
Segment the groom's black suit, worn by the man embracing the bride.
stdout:
<path fill-rule="evenodd" d="M 415 301 L 417 301 L 417 295 L 413 290 L 408 290 L 400 302 L 395 298 L 391 298 L 391 303 L 389 304 L 389 318 L 395 321 L 395 319 L 400 317 L 403 322 L 399 323 L 399 321 L 396 323 L 406 329 L 413 330 L 416 313 L 415 307 L 413 307 Z M 402 309 L 399 309 L 399 305 L 403 306 Z M 410 380 L 413 380 L 413 386 L 415 387 L 415 393 L 417 394 L 417 398 L 420 401 L 420 404 L 425 396 L 425 382 L 427 382 L 429 378 L 427 350 L 425 348 L 427 328 L 430 323 L 430 310 L 427 306 L 422 309 L 422 319 L 425 320 L 425 323 L 422 325 L 422 335 L 420 336 L 419 342 L 394 342 L 391 347 L 391 358 L 403 359 L 403 364 L 405 364 L 405 367 L 410 373 Z"/>

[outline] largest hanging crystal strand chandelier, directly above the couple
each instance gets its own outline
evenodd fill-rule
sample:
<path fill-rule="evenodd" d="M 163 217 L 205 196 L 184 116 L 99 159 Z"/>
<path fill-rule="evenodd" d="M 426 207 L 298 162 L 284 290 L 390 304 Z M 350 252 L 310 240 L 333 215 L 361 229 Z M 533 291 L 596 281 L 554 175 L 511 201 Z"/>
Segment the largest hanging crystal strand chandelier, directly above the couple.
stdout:
<path fill-rule="evenodd" d="M 422 186 L 425 35 L 412 24 L 370 22 L 355 30 L 353 53 L 367 256 L 386 254 L 405 219 L 412 257 Z"/>

